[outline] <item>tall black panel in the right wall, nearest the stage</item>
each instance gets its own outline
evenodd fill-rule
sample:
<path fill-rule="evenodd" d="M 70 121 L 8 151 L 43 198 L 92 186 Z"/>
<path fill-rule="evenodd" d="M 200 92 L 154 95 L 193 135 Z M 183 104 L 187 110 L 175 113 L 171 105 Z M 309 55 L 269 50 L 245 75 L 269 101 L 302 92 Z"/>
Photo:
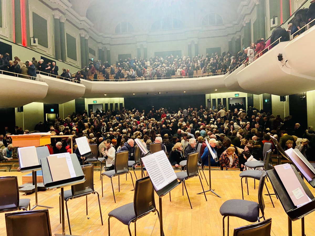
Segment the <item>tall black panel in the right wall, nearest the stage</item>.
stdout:
<path fill-rule="evenodd" d="M 289 111 L 295 123 L 299 123 L 301 129 L 306 130 L 308 128 L 306 93 L 289 95 Z"/>

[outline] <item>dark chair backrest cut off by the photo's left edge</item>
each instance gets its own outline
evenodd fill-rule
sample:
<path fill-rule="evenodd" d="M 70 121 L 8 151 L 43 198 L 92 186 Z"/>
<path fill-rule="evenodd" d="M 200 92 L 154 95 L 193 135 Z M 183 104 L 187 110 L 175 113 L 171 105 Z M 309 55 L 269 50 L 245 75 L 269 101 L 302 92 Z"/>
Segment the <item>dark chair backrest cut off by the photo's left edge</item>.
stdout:
<path fill-rule="evenodd" d="M 0 177 L 0 199 L 0 212 L 18 209 L 19 186 L 16 176 Z"/>

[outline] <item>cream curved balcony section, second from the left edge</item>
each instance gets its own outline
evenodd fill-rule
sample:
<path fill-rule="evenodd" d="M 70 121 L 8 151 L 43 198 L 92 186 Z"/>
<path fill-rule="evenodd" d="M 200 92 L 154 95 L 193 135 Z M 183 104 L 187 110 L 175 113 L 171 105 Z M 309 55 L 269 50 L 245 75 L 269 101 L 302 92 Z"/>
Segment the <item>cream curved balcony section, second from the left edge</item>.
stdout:
<path fill-rule="evenodd" d="M 49 74 L 40 72 L 38 77 L 48 84 L 47 95 L 37 102 L 62 104 L 76 98 L 83 97 L 85 86 L 75 83 L 67 78 L 58 76 L 58 78 L 48 76 Z"/>

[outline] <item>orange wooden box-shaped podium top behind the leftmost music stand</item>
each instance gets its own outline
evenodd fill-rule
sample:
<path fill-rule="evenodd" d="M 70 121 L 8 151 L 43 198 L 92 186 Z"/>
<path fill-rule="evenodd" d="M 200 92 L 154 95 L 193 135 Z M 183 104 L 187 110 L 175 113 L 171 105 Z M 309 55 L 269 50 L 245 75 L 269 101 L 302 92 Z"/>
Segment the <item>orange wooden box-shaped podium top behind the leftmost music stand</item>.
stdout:
<path fill-rule="evenodd" d="M 50 133 L 9 135 L 9 137 L 12 138 L 13 147 L 40 147 L 50 144 Z"/>

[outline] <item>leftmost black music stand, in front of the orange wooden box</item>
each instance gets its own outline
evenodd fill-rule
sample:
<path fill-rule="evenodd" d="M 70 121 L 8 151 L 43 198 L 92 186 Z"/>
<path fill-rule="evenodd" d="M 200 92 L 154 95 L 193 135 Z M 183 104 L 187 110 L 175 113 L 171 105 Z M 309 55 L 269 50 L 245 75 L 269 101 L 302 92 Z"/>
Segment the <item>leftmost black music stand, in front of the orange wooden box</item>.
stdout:
<path fill-rule="evenodd" d="M 41 158 L 45 158 L 47 156 L 49 156 L 49 150 L 48 147 L 43 146 L 43 147 L 37 147 L 36 148 L 36 152 L 37 152 L 37 158 L 38 158 L 38 163 L 41 163 L 40 160 Z M 20 157 L 21 158 L 21 157 Z M 20 161 L 19 158 L 19 161 Z M 21 166 L 21 164 L 20 164 Z M 35 205 L 31 208 L 31 210 L 33 210 L 34 208 L 36 208 L 37 206 L 40 207 L 44 207 L 44 208 L 53 208 L 52 206 L 44 206 L 44 205 L 38 205 L 38 197 L 37 197 L 37 171 L 40 171 L 42 169 L 41 165 L 38 166 L 28 166 L 28 167 L 24 167 L 24 168 L 20 168 L 20 171 L 22 173 L 25 172 L 29 172 L 32 171 L 32 176 L 33 176 L 33 180 L 34 180 L 34 188 L 35 188 Z"/>

